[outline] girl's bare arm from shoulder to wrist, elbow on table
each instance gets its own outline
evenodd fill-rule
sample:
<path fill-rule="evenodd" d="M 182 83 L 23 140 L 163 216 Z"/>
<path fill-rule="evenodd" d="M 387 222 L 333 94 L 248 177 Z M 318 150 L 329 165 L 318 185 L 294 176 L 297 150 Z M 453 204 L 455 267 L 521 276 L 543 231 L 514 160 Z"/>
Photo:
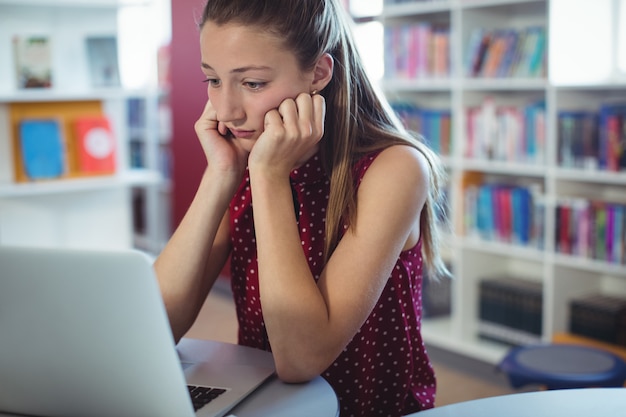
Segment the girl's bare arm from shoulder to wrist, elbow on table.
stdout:
<path fill-rule="evenodd" d="M 298 114 L 309 112 L 300 102 L 297 109 Z M 295 129 L 289 125 L 295 123 L 305 141 L 306 123 L 293 121 L 286 109 L 280 114 L 286 127 L 277 137 L 291 136 Z M 266 131 L 279 120 L 269 122 Z M 339 356 L 374 308 L 400 252 L 417 242 L 427 162 L 406 146 L 391 147 L 376 158 L 359 187 L 355 227 L 339 242 L 316 284 L 302 251 L 289 176 L 280 158 L 261 164 L 256 156 L 250 179 L 263 318 L 278 375 L 305 381 Z"/>

